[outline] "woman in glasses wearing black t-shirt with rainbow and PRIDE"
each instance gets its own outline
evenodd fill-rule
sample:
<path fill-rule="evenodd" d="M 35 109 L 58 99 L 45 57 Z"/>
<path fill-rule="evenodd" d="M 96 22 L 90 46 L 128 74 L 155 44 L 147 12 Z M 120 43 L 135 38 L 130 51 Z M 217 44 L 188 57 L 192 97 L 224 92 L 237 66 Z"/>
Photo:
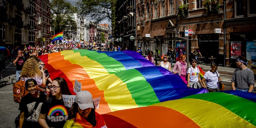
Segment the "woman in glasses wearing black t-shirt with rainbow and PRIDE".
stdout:
<path fill-rule="evenodd" d="M 52 85 L 48 86 L 51 94 L 47 97 L 41 108 L 39 124 L 44 127 L 63 128 L 68 120 L 68 109 L 62 100 L 62 94 L 71 95 L 68 84 L 64 78 L 53 79 Z"/>

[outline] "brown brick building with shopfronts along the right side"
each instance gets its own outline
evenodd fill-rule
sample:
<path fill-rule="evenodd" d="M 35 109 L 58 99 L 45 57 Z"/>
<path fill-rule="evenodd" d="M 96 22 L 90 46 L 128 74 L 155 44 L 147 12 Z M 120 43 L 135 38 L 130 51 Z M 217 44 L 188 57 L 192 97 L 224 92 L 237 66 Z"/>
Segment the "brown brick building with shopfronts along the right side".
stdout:
<path fill-rule="evenodd" d="M 194 35 L 188 37 L 187 43 L 189 60 L 192 49 L 199 47 L 204 63 L 210 63 L 208 58 L 213 56 L 220 66 L 229 66 L 232 60 L 229 43 L 237 40 L 238 35 L 245 37 L 244 41 L 255 40 L 252 33 L 255 33 L 256 12 L 250 8 L 253 3 L 253 0 L 136 0 L 137 47 L 141 46 L 145 55 L 155 49 L 161 55 L 166 54 L 167 46 L 176 48 L 177 42 L 184 42 L 175 38 L 185 37 L 185 30 L 192 29 Z"/>

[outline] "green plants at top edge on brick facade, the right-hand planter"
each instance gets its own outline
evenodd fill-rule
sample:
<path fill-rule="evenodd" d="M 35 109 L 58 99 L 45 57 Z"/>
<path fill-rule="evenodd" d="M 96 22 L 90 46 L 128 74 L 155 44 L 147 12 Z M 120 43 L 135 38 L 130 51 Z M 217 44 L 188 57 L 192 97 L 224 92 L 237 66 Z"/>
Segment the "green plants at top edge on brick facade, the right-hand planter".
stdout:
<path fill-rule="evenodd" d="M 218 0 L 205 0 L 204 8 L 208 14 L 217 14 L 220 10 L 220 2 Z"/>

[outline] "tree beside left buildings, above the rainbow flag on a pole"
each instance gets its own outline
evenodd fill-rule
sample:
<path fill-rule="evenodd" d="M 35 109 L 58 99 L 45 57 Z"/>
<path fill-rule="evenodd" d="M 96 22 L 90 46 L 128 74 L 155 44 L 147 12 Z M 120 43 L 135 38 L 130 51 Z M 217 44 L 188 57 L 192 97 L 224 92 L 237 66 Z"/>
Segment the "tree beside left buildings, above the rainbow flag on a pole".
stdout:
<path fill-rule="evenodd" d="M 76 28 L 76 21 L 73 18 L 77 12 L 75 6 L 67 0 L 52 0 L 51 4 L 51 27 L 54 29 L 52 35 L 64 31 L 67 25 Z"/>

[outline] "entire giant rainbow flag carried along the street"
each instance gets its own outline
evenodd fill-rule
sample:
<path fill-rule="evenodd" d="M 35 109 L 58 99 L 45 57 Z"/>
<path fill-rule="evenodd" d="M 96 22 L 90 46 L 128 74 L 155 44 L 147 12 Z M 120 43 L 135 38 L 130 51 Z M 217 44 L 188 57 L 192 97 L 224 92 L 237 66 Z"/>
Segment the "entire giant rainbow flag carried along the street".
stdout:
<path fill-rule="evenodd" d="M 109 128 L 256 127 L 256 94 L 187 88 L 180 76 L 138 52 L 68 50 L 39 58 L 73 94 L 77 79 L 82 90 L 101 97 L 96 111 Z"/>

